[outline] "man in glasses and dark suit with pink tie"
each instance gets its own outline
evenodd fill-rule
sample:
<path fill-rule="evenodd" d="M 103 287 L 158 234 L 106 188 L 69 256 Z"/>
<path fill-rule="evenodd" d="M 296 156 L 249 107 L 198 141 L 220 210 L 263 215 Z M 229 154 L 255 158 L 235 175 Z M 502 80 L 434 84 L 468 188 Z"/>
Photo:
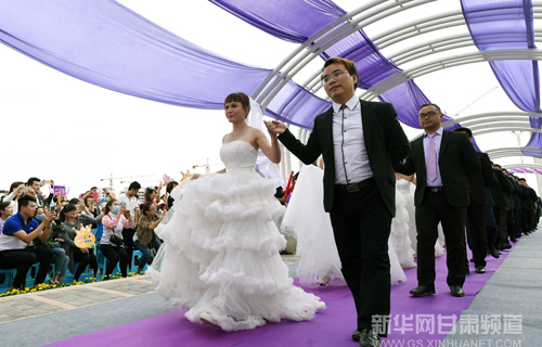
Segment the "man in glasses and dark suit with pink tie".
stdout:
<path fill-rule="evenodd" d="M 467 137 L 442 128 L 439 106 L 422 105 L 418 118 L 425 133 L 411 142 L 409 157 L 397 167 L 400 174 L 416 174 L 418 286 L 410 293 L 435 294 L 435 242 L 440 221 L 447 245 L 447 283 L 453 296 L 464 296 L 467 177 L 480 169 L 480 160 Z"/>

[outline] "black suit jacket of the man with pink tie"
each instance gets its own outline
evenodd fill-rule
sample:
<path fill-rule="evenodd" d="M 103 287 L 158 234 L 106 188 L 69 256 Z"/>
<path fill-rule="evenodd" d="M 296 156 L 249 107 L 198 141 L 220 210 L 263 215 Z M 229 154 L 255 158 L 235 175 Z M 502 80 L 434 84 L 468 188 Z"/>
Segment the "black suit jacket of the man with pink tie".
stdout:
<path fill-rule="evenodd" d="M 439 168 L 442 187 L 448 203 L 452 207 L 467 206 L 467 177 L 480 170 L 480 159 L 464 133 L 443 130 L 439 150 Z M 397 171 L 403 175 L 416 174 L 414 205 L 424 201 L 427 171 L 424 155 L 424 137 L 411 142 L 410 155 Z"/>

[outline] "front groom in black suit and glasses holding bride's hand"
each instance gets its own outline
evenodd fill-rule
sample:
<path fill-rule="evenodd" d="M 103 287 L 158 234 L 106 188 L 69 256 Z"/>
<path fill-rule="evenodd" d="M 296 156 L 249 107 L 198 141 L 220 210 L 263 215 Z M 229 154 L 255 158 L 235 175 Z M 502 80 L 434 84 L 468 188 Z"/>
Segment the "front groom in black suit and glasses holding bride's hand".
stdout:
<path fill-rule="evenodd" d="M 314 119 L 307 144 L 284 124 L 267 126 L 309 165 L 321 154 L 324 208 L 330 213 L 343 274 L 358 311 L 352 335 L 360 346 L 379 346 L 386 336 L 390 301 L 388 237 L 395 216 L 395 165 L 409 154 L 409 141 L 389 103 L 358 99 L 359 76 L 353 62 L 328 59 L 322 83 L 333 106 Z M 373 320 L 384 321 L 378 331 Z"/>

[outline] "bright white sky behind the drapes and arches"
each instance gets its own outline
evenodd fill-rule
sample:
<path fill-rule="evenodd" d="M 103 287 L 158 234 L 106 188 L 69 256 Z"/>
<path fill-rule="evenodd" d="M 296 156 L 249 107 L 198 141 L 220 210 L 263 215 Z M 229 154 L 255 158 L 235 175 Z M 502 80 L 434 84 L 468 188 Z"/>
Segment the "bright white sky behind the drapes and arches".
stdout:
<path fill-rule="evenodd" d="M 274 38 L 242 22 L 208 1 L 124 0 L 124 5 L 167 30 L 230 60 L 273 68 L 297 44 Z M 359 1 L 335 1 L 350 11 Z M 439 0 L 364 27 L 370 37 L 398 23 L 439 11 L 457 9 L 456 0 Z M 415 12 L 412 12 L 415 11 Z M 413 16 L 413 13 L 415 15 Z M 447 31 L 460 33 L 466 27 Z M 442 33 L 433 34 L 438 37 Z M 384 55 L 405 47 L 403 42 L 383 49 Z M 464 50 L 476 51 L 476 48 Z M 410 68 L 434 56 L 401 66 Z M 69 197 L 91 187 L 116 191 L 138 180 L 143 187 L 157 185 L 164 174 L 179 180 L 181 171 L 211 171 L 220 165 L 223 134 L 231 131 L 222 111 L 185 108 L 138 99 L 78 80 L 0 44 L 0 114 L 3 163 L 0 190 L 29 177 L 53 179 L 69 187 Z M 322 64 L 315 59 L 294 78 L 306 76 Z M 487 63 L 452 67 L 415 79 L 431 102 L 457 118 L 482 112 L 518 111 L 496 82 Z M 495 88 L 496 87 L 496 88 Z M 482 94 L 493 90 L 480 99 Z M 232 91 L 234 92 L 234 91 Z M 323 97 L 323 95 L 321 95 Z M 225 95 L 224 95 L 225 98 Z M 463 110 L 463 111 L 462 111 Z M 462 111 L 460 113 L 460 111 Z M 409 138 L 421 133 L 404 127 Z M 294 132 L 296 133 L 296 132 Z M 526 145 L 529 134 L 520 137 Z M 482 150 L 517 146 L 512 132 L 477 137 Z M 501 164 L 520 163 L 502 158 Z M 524 158 L 532 163 L 532 158 Z M 293 169 L 298 165 L 293 159 Z M 215 165 L 216 164 L 216 165 Z M 535 187 L 533 175 L 527 175 Z"/>

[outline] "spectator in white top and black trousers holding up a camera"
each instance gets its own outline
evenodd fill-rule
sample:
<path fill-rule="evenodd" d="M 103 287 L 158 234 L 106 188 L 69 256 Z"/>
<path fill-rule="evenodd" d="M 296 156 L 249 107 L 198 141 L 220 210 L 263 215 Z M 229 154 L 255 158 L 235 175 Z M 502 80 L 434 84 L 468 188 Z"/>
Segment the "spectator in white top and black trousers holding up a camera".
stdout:
<path fill-rule="evenodd" d="M 128 275 L 128 253 L 122 247 L 122 230 L 132 229 L 133 220 L 130 211 L 126 206 L 120 206 L 116 200 L 109 200 L 104 208 L 104 217 L 102 218 L 103 234 L 101 241 L 101 249 L 105 258 L 107 258 L 107 267 L 105 269 L 104 281 L 111 278 L 111 274 L 117 264 L 120 261 L 120 273 L 126 278 Z"/>

